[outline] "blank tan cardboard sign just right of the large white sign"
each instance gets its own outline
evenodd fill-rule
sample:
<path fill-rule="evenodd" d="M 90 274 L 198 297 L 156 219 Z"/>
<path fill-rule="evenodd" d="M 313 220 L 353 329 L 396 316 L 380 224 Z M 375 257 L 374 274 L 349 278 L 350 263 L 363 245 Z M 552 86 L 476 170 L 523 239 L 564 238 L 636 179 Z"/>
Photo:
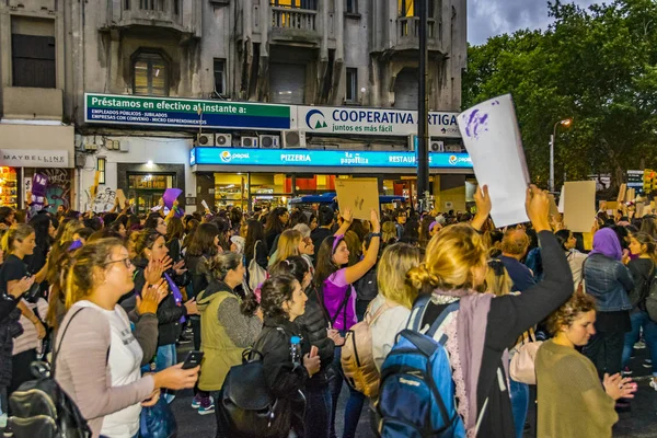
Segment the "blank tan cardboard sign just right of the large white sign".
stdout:
<path fill-rule="evenodd" d="M 590 232 L 596 217 L 596 182 L 576 181 L 564 185 L 564 223 L 573 232 Z"/>

